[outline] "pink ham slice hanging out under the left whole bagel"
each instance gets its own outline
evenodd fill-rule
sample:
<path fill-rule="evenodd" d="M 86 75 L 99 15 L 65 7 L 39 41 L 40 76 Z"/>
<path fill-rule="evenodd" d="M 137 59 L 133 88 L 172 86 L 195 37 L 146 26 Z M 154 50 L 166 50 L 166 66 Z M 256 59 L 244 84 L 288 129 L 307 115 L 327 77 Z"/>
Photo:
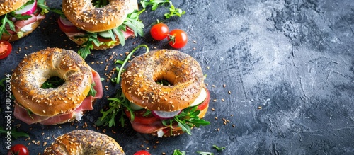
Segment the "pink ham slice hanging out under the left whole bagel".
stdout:
<path fill-rule="evenodd" d="M 55 125 L 60 122 L 64 122 L 67 120 L 72 119 L 76 113 L 82 113 L 86 110 L 93 110 L 93 101 L 96 98 L 102 98 L 103 96 L 103 87 L 101 82 L 101 77 L 97 71 L 91 69 L 93 81 L 95 82 L 96 86 L 93 88 L 97 91 L 96 96 L 88 96 L 81 102 L 81 104 L 69 113 L 64 113 L 62 115 L 55 115 L 53 117 L 43 117 L 40 115 L 31 114 L 28 115 L 27 109 L 23 108 L 21 105 L 18 105 L 17 101 L 15 101 L 15 110 L 14 115 L 19 120 L 27 123 L 28 125 L 39 122 L 42 125 Z"/>

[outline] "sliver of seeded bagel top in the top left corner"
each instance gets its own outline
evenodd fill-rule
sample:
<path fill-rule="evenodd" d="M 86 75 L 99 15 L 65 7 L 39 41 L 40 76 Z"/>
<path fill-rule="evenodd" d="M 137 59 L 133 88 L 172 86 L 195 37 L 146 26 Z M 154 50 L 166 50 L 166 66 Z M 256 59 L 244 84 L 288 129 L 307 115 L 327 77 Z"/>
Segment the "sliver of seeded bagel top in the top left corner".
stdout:
<path fill-rule="evenodd" d="M 15 11 L 30 0 L 6 0 L 0 2 L 0 16 Z"/>

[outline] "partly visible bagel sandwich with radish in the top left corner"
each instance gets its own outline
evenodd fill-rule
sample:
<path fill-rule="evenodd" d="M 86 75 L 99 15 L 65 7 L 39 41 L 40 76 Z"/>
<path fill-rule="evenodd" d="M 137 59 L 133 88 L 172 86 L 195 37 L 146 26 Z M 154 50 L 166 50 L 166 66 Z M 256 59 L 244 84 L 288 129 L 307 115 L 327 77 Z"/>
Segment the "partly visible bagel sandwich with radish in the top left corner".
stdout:
<path fill-rule="evenodd" d="M 0 37 L 8 42 L 30 34 L 47 13 L 45 0 L 8 0 L 0 3 Z"/>

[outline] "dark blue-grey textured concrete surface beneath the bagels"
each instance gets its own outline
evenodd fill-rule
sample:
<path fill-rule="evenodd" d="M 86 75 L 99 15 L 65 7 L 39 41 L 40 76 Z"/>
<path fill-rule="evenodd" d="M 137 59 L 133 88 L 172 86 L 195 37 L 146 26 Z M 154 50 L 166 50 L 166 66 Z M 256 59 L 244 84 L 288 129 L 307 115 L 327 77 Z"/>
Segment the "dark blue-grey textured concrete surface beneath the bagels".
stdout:
<path fill-rule="evenodd" d="M 60 1 L 47 4 L 59 7 Z M 211 125 L 194 129 L 192 135 L 161 139 L 137 134 L 130 126 L 95 127 L 99 110 L 108 104 L 103 98 L 81 122 L 25 125 L 13 117 L 13 127 L 30 134 L 30 139 L 15 139 L 13 144 L 29 144 L 31 154 L 38 154 L 54 137 L 82 129 L 87 123 L 85 129 L 115 138 L 126 154 L 140 149 L 152 154 L 172 154 L 174 149 L 187 154 L 354 154 L 354 1 L 207 0 L 173 4 L 186 14 L 166 20 L 166 24 L 170 30 L 180 28 L 188 33 L 188 45 L 181 51 L 195 57 L 207 74 L 205 83 L 211 98 L 205 119 Z M 147 44 L 150 50 L 170 48 L 166 41 L 156 42 L 149 35 L 150 25 L 156 19 L 161 21 L 165 11 L 160 7 L 142 13 L 144 38 L 127 40 L 124 47 L 95 51 L 87 62 L 105 77 L 115 67 L 112 61 L 105 62 L 113 52 L 130 52 L 140 44 Z M 13 53 L 0 60 L 1 79 L 5 73 L 11 74 L 25 54 L 45 47 L 79 49 L 60 32 L 57 17 L 48 13 L 34 33 L 12 42 Z M 104 96 L 113 96 L 120 88 L 110 82 L 103 82 L 103 86 L 109 87 Z M 2 108 L 4 96 L 1 93 Z M 229 122 L 224 125 L 223 119 Z M 2 121 L 0 124 L 5 125 Z M 0 139 L 4 154 L 4 134 Z M 47 146 L 43 146 L 45 142 Z M 213 144 L 226 149 L 218 152 Z"/>

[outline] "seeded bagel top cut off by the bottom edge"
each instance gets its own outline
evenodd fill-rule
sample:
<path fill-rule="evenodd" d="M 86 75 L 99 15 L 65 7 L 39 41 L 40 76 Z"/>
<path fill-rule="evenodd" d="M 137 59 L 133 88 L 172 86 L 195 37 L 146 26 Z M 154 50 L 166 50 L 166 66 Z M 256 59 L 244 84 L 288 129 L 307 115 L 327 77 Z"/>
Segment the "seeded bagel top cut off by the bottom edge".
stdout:
<path fill-rule="evenodd" d="M 122 147 L 115 139 L 91 130 L 74 130 L 57 137 L 44 151 L 50 154 L 111 154 L 124 155 Z"/>

